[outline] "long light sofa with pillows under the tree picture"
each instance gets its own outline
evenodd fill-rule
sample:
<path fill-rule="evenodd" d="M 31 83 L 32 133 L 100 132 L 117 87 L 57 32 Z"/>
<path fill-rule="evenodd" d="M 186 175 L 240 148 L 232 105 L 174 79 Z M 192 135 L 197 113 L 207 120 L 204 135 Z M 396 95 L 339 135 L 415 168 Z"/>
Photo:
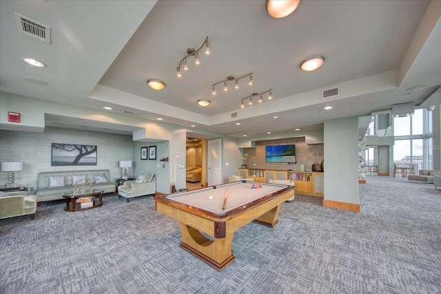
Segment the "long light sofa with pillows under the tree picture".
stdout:
<path fill-rule="evenodd" d="M 103 189 L 103 193 L 114 193 L 116 185 L 110 181 L 108 169 L 92 169 L 83 171 L 44 171 L 37 178 L 37 204 L 41 202 L 63 199 L 61 193 L 74 191 L 77 180 L 89 180 L 91 189 Z"/>

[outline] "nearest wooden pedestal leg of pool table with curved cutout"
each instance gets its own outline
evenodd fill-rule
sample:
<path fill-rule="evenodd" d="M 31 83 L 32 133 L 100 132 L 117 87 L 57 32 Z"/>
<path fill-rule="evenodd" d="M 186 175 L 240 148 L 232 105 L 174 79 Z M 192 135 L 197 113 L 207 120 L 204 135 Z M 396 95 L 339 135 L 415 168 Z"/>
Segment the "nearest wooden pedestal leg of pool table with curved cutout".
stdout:
<path fill-rule="evenodd" d="M 182 243 L 179 246 L 183 249 L 201 258 L 218 271 L 225 269 L 235 259 L 232 255 L 234 233 L 227 234 L 225 238 L 209 240 L 197 229 L 182 222 L 180 224 Z"/>

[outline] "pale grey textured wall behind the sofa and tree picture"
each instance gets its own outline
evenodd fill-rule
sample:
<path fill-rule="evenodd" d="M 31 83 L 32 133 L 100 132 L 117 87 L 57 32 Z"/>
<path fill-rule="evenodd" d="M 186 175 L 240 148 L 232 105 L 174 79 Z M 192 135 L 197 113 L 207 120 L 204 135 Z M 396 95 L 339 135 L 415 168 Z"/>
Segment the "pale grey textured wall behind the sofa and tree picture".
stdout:
<path fill-rule="evenodd" d="M 97 163 L 88 166 L 51 166 L 51 143 L 97 146 Z M 132 136 L 84 132 L 74 129 L 46 127 L 43 133 L 0 131 L 0 161 L 22 161 L 23 171 L 15 173 L 17 184 L 37 189 L 40 171 L 72 171 L 82 169 L 110 169 L 110 180 L 121 177 L 119 160 L 132 160 Z M 129 171 L 132 174 L 132 170 Z M 0 173 L 0 185 L 8 182 L 7 172 Z"/>

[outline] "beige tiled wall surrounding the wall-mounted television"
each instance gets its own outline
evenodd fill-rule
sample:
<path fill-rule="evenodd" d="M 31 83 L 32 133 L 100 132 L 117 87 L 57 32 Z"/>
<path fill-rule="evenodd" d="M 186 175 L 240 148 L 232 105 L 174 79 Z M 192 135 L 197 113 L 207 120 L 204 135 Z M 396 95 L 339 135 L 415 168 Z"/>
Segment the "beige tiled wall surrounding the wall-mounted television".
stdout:
<path fill-rule="evenodd" d="M 289 165 L 285 162 L 265 162 L 265 146 L 267 145 L 296 145 L 296 165 Z M 323 144 L 306 144 L 305 137 L 285 138 L 277 140 L 262 140 L 256 142 L 255 148 L 244 148 L 244 153 L 249 154 L 245 162 L 247 168 L 254 169 L 293 169 L 300 171 L 300 165 L 305 165 L 305 171 L 311 171 L 314 163 L 324 160 Z M 256 164 L 256 165 L 254 165 Z M 326 169 L 325 169 L 326 170 Z"/>

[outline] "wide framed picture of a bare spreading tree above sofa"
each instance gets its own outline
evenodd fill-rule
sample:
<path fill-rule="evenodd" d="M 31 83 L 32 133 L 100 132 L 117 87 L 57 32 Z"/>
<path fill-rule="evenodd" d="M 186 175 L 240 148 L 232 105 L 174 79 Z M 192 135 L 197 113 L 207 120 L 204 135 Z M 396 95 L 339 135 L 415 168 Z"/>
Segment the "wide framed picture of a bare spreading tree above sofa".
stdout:
<path fill-rule="evenodd" d="M 96 165 L 96 154 L 96 145 L 52 143 L 50 165 Z"/>

